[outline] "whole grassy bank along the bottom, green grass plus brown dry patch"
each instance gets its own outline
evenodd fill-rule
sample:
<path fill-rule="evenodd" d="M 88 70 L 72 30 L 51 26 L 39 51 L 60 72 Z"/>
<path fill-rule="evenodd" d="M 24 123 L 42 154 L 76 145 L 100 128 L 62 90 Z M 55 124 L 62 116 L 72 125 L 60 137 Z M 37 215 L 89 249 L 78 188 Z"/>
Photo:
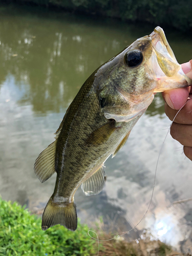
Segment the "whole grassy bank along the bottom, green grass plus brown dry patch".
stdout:
<path fill-rule="evenodd" d="M 99 227 L 99 225 L 98 225 Z M 18 205 L 0 197 L 0 255 L 41 256 L 41 255 L 97 255 L 98 242 L 93 240 L 88 225 L 78 223 L 75 232 L 56 225 L 46 231 L 41 230 L 41 219 Z M 99 256 L 171 256 L 184 255 L 170 246 L 150 238 L 127 242 L 123 237 L 110 240 L 114 236 L 102 229 L 91 229 L 100 240 Z M 95 237 L 94 232 L 91 236 Z M 189 254 L 188 254 L 189 255 Z"/>

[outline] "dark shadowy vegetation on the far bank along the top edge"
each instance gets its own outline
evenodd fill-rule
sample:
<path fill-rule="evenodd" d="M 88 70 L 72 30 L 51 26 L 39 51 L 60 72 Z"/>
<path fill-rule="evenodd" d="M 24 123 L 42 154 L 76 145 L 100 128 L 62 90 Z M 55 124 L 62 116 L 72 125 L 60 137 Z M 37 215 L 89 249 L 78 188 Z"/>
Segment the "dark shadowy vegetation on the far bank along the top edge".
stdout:
<path fill-rule="evenodd" d="M 126 22 L 146 22 L 174 27 L 182 31 L 192 28 L 191 0 L 0 0 L 4 3 L 22 3 L 57 7 L 88 15 L 120 18 Z"/>

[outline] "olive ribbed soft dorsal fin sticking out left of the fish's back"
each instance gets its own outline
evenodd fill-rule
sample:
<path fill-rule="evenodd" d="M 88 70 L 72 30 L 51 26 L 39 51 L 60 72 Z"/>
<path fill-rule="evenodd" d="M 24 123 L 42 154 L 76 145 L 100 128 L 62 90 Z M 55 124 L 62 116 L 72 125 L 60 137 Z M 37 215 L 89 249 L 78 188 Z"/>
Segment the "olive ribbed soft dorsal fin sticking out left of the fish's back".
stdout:
<path fill-rule="evenodd" d="M 42 151 L 35 161 L 35 174 L 41 182 L 48 180 L 55 172 L 56 142 L 55 140 Z"/>

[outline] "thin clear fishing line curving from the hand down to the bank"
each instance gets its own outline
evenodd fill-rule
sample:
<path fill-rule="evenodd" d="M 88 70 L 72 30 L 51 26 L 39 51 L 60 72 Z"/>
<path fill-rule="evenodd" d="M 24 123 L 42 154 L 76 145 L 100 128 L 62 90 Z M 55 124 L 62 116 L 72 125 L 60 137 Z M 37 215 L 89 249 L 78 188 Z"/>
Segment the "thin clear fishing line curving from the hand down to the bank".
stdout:
<path fill-rule="evenodd" d="M 190 98 L 188 99 L 187 102 L 189 102 L 189 100 L 190 100 Z M 140 220 L 132 229 L 130 229 L 129 231 L 123 232 L 122 234 L 118 235 L 117 237 L 114 237 L 114 238 L 111 238 L 111 239 L 108 239 L 108 240 L 100 240 L 100 239 L 98 238 L 97 233 L 96 233 L 95 231 L 92 231 L 92 230 L 89 230 L 89 231 L 88 231 L 89 236 L 90 236 L 92 239 L 94 239 L 94 240 L 96 240 L 96 241 L 98 242 L 98 254 L 97 254 L 97 256 L 99 255 L 99 242 L 111 241 L 111 240 L 113 240 L 113 239 L 117 239 L 117 238 L 120 238 L 120 237 L 124 236 L 124 234 L 129 234 L 132 230 L 134 230 L 134 229 L 139 225 L 139 223 L 144 219 L 145 215 L 147 214 L 148 210 L 150 209 L 150 206 L 151 206 L 151 203 L 152 203 L 152 199 L 153 199 L 153 195 L 154 195 L 154 189 L 155 189 L 155 182 L 156 182 L 156 175 L 157 175 L 157 166 L 158 166 L 158 163 L 159 163 L 159 158 L 160 158 L 160 155 L 161 155 L 161 151 L 162 151 L 164 142 L 165 142 L 165 140 L 166 140 L 166 138 L 167 138 L 167 135 L 168 135 L 168 133 L 169 133 L 169 131 L 170 131 L 170 127 L 172 127 L 172 124 L 174 123 L 174 121 L 175 121 L 177 115 L 178 115 L 179 112 L 182 110 L 182 108 L 187 104 L 187 102 L 185 102 L 185 104 L 181 107 L 181 109 L 180 109 L 180 110 L 177 112 L 177 114 L 175 115 L 175 117 L 174 117 L 172 123 L 170 124 L 170 126 L 169 126 L 169 128 L 168 128 L 168 131 L 167 131 L 167 134 L 166 134 L 166 136 L 165 136 L 165 138 L 164 138 L 164 140 L 163 140 L 163 143 L 162 143 L 162 145 L 161 145 L 161 148 L 160 148 L 160 151 L 159 151 L 159 156 L 158 156 L 158 159 L 157 159 L 156 168 L 155 168 L 155 176 L 154 176 L 154 183 L 153 183 L 153 189 L 152 189 L 152 196 L 151 196 L 150 204 L 148 205 L 146 211 L 144 212 L 144 214 L 143 214 L 141 220 Z M 95 233 L 96 236 L 97 236 L 97 239 L 94 238 L 94 237 L 92 237 L 91 234 L 90 234 L 90 232 Z"/>

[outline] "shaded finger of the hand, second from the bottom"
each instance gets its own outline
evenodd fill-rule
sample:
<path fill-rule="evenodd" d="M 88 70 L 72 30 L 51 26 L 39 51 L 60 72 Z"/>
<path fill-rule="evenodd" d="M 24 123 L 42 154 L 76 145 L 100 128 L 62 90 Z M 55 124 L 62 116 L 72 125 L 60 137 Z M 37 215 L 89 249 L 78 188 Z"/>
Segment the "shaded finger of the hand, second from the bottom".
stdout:
<path fill-rule="evenodd" d="M 170 135 L 183 146 L 192 146 L 192 125 L 173 123 Z"/>

